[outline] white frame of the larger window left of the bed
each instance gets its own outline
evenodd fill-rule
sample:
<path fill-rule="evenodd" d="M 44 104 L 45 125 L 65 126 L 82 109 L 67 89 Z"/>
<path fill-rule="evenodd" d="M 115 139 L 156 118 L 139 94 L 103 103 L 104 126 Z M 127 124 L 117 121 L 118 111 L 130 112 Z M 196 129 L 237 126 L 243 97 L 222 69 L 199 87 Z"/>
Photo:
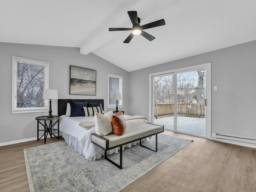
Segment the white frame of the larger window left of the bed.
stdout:
<path fill-rule="evenodd" d="M 15 113 L 33 113 L 33 112 L 47 112 L 48 100 L 44 100 L 43 107 L 27 107 L 17 108 L 17 62 L 24 62 L 45 67 L 45 88 L 49 89 L 49 62 L 32 60 L 22 57 L 12 56 L 12 114 Z"/>

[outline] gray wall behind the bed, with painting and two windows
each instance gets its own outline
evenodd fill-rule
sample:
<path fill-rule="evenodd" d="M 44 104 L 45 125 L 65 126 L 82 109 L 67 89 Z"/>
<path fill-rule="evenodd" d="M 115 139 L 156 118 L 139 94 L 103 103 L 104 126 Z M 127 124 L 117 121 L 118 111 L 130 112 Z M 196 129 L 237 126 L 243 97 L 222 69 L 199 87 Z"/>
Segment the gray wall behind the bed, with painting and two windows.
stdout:
<path fill-rule="evenodd" d="M 36 137 L 37 116 L 48 113 L 12 114 L 12 56 L 50 62 L 50 89 L 57 89 L 60 99 L 108 98 L 108 73 L 123 76 L 123 106 L 128 106 L 128 72 L 94 54 L 80 54 L 79 48 L 10 44 L 0 42 L 0 143 Z M 69 94 L 69 66 L 97 70 L 96 96 Z M 53 114 L 57 115 L 57 101 L 52 102 Z M 122 108 L 120 108 L 122 110 Z"/>

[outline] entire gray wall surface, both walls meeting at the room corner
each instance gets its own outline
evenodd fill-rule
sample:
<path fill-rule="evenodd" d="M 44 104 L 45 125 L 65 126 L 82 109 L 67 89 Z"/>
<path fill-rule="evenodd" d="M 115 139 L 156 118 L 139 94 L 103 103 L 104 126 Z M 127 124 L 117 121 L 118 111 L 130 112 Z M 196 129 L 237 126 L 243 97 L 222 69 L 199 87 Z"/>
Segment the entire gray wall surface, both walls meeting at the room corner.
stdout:
<path fill-rule="evenodd" d="M 35 117 L 47 115 L 11 113 L 12 56 L 50 62 L 50 89 L 57 89 L 60 99 L 104 98 L 106 106 L 108 73 L 122 75 L 125 114 L 147 117 L 149 74 L 211 62 L 212 89 L 218 86 L 212 90 L 212 132 L 256 137 L 255 50 L 253 41 L 128 73 L 94 54 L 80 54 L 79 48 L 0 43 L 0 143 L 36 137 Z M 96 96 L 69 95 L 69 65 L 97 70 Z"/>

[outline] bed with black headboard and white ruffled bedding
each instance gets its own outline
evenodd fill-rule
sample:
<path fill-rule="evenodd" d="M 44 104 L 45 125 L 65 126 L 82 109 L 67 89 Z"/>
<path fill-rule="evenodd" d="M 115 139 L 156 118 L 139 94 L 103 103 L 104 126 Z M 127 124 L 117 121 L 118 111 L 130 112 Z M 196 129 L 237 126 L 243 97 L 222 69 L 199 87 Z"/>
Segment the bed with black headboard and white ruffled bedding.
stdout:
<path fill-rule="evenodd" d="M 64 138 L 65 142 L 69 146 L 74 147 L 75 151 L 78 151 L 88 160 L 96 160 L 104 156 L 104 150 L 99 148 L 98 146 L 91 143 L 91 135 L 95 132 L 95 127 L 92 127 L 88 130 L 81 127 L 79 123 L 81 122 L 94 122 L 94 116 L 76 116 L 70 117 L 66 115 L 67 103 L 70 102 L 71 99 L 59 99 L 58 100 L 58 116 L 60 116 L 60 135 Z M 104 110 L 104 100 L 103 99 L 93 99 L 93 100 L 80 100 L 75 99 L 72 100 L 75 102 L 88 102 L 88 103 L 96 103 L 99 102 Z M 124 115 L 127 117 L 127 115 Z M 136 119 L 136 120 L 128 120 L 126 121 L 126 128 L 129 126 L 144 124 L 147 120 L 145 119 Z M 147 140 L 148 138 L 144 139 Z M 139 143 L 132 142 L 130 144 L 126 144 L 123 146 L 124 148 L 130 148 L 132 145 L 136 145 Z M 108 154 L 118 153 L 119 148 L 114 148 L 108 151 Z"/>

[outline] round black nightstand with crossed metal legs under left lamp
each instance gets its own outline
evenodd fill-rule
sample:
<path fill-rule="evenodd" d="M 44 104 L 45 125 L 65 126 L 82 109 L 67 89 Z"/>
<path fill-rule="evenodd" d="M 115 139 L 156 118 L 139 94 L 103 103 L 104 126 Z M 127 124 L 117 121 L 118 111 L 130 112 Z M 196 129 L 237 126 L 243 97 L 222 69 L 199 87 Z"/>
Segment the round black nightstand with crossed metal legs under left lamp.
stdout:
<path fill-rule="evenodd" d="M 60 139 L 59 136 L 59 130 L 60 130 L 60 126 L 59 126 L 59 119 L 60 116 L 53 116 L 53 117 L 47 117 L 47 116 L 40 116 L 40 117 L 36 117 L 37 120 L 37 141 L 42 138 L 42 136 L 44 136 L 44 143 L 46 143 L 46 138 L 48 136 L 48 133 L 50 134 L 50 136 L 52 137 L 52 135 L 54 135 L 52 133 L 52 130 L 58 130 L 58 137 L 56 135 L 54 135 L 57 139 Z M 54 124 L 52 124 L 52 120 L 56 120 L 56 122 L 54 122 Z M 44 124 L 42 124 L 40 121 L 44 121 Z M 50 123 L 47 125 L 46 121 L 50 121 Z M 44 129 L 39 129 L 39 123 L 44 127 Z M 53 129 L 54 125 L 58 123 L 58 129 Z M 44 134 L 39 138 L 39 131 L 44 131 Z"/>

